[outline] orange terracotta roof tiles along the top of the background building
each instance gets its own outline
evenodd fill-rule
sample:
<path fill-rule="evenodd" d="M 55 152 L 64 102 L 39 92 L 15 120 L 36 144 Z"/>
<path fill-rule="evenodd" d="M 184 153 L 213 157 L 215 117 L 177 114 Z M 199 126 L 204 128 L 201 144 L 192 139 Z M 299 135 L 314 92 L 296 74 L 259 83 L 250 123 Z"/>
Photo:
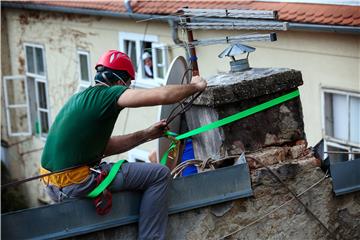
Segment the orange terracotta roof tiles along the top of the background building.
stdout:
<path fill-rule="evenodd" d="M 14 1 L 12 1 L 14 3 Z M 123 0 L 80 0 L 80 1 L 42 1 L 22 0 L 20 4 L 45 4 L 69 8 L 85 8 L 112 12 L 126 12 Z M 208 9 L 251 9 L 278 11 L 280 21 L 360 26 L 360 7 L 347 5 L 261 2 L 254 0 L 132 0 L 134 13 L 175 15 L 177 10 L 189 8 Z"/>

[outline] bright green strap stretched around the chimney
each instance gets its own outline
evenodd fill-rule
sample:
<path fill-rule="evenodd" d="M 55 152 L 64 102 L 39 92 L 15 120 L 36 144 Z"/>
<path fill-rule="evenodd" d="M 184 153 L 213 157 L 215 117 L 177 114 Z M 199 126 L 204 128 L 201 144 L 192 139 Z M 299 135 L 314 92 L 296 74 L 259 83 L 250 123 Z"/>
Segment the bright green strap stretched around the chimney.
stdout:
<path fill-rule="evenodd" d="M 258 113 L 258 112 L 261 112 L 265 109 L 268 109 L 268 108 L 271 108 L 275 105 L 278 105 L 280 103 L 283 103 L 283 102 L 286 102 L 290 99 L 293 99 L 295 97 L 298 97 L 300 96 L 300 93 L 299 93 L 299 90 L 295 90 L 291 93 L 288 93 L 288 94 L 285 94 L 283 96 L 280 96 L 280 97 L 277 97 L 277 98 L 274 98 L 272 100 L 269 100 L 267 102 L 264 102 L 264 103 L 261 103 L 257 106 L 254 106 L 254 107 L 251 107 L 249 109 L 246 109 L 244 111 L 241 111 L 241 112 L 238 112 L 238 113 L 235 113 L 231 116 L 228 116 L 226 118 L 223 118 L 223 119 L 220 119 L 216 122 L 212 122 L 212 123 L 209 123 L 205 126 L 202 126 L 202 127 L 199 127 L 199 128 L 196 128 L 194 130 L 191 130 L 189 132 L 186 132 L 186 133 L 183 133 L 181 135 L 178 135 L 175 137 L 175 140 L 181 140 L 181 139 L 184 139 L 184 138 L 188 138 L 188 137 L 192 137 L 194 135 L 197 135 L 197 134 L 200 134 L 200 133 L 203 133 L 203 132 L 206 132 L 206 131 L 209 131 L 209 130 L 212 130 L 214 128 L 218 128 L 218 127 L 221 127 L 221 126 L 224 126 L 226 124 L 229 124 L 229 123 L 232 123 L 234 121 L 237 121 L 239 119 L 242 119 L 242 118 L 245 118 L 245 117 L 248 117 L 252 114 L 255 114 L 255 113 Z M 174 133 L 172 132 L 166 132 L 165 135 L 167 136 L 174 136 Z M 170 153 L 170 151 L 172 149 L 174 149 L 176 146 L 175 144 L 175 141 L 173 141 L 171 144 L 170 144 L 170 147 L 169 149 L 164 153 L 164 156 L 161 158 L 161 161 L 160 163 L 163 164 L 163 165 L 166 165 L 166 161 L 167 161 L 167 158 L 168 158 L 168 155 Z"/>

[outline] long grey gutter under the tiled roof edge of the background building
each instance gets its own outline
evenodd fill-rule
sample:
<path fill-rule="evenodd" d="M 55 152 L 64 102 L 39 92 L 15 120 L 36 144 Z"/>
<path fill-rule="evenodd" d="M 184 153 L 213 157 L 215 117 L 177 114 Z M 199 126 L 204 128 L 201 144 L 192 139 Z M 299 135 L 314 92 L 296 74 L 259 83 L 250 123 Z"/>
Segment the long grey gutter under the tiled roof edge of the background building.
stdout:
<path fill-rule="evenodd" d="M 134 20 L 153 19 L 162 22 L 167 22 L 169 20 L 178 21 L 178 17 L 176 16 L 151 15 L 151 14 L 139 14 L 139 13 L 120 13 L 120 12 L 84 9 L 84 8 L 50 6 L 45 4 L 1 2 L 1 7 L 63 12 L 63 13 L 71 13 L 71 14 L 86 14 L 86 15 L 103 16 L 103 17 L 130 18 Z M 232 19 L 219 19 L 219 18 L 194 18 L 193 20 L 193 22 L 201 22 L 201 21 L 233 22 Z M 279 22 L 279 21 L 270 21 L 270 22 Z M 291 23 L 291 22 L 289 22 L 288 30 L 360 34 L 360 27 L 357 26 L 339 26 L 339 25 L 307 24 L 307 23 Z"/>

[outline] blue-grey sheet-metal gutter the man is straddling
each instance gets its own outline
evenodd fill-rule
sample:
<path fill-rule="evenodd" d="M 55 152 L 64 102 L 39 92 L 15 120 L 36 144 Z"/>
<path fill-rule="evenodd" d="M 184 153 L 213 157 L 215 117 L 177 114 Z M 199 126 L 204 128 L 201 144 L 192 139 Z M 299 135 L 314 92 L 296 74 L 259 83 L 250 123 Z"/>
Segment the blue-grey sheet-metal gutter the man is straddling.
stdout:
<path fill-rule="evenodd" d="M 247 163 L 176 178 L 169 189 L 169 214 L 253 196 Z M 141 194 L 113 194 L 109 214 L 99 216 L 91 199 L 1 215 L 2 239 L 61 239 L 138 221 Z"/>

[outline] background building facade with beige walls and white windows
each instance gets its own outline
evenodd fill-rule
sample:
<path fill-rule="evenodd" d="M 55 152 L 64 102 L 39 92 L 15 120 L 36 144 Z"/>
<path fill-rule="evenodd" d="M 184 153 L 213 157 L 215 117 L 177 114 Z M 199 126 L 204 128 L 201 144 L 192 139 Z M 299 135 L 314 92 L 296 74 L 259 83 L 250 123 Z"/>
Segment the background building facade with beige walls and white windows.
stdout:
<path fill-rule="evenodd" d="M 134 3 L 132 13 L 122 2 L 116 4 L 117 10 L 103 9 L 101 4 L 89 7 L 90 10 L 71 4 L 53 6 L 46 1 L 2 4 L 1 138 L 2 152 L 6 153 L 2 159 L 14 178 L 38 175 L 52 122 L 70 96 L 93 84 L 94 66 L 104 51 L 118 49 L 128 53 L 136 65 L 135 88 L 165 85 L 171 61 L 176 56 L 186 56 L 186 50 L 174 42 L 174 32 L 180 40 L 186 40 L 184 32 L 174 30 L 176 19 L 139 21 L 151 17 L 149 14 L 171 13 L 146 6 L 151 4 L 146 1 Z M 181 7 L 181 1 L 175 1 L 176 4 Z M 206 1 L 203 4 L 204 8 L 209 7 Z M 326 6 L 334 13 L 338 11 L 336 5 Z M 301 7 L 306 10 L 312 6 Z M 285 21 L 281 14 L 280 9 L 280 21 Z M 349 154 L 336 156 L 339 161 L 358 158 L 359 154 L 353 152 L 360 152 L 358 15 L 349 13 L 348 19 L 354 21 L 348 24 L 320 24 L 315 20 L 308 23 L 304 18 L 294 21 L 287 31 L 277 31 L 275 42 L 248 43 L 256 48 L 249 56 L 251 67 L 286 67 L 302 72 L 304 85 L 300 92 L 308 143 L 313 146 L 324 138 L 329 151 L 348 151 Z M 336 18 L 335 14 L 332 16 Z M 210 39 L 249 32 L 195 30 L 194 37 Z M 223 44 L 196 48 L 201 76 L 206 79 L 229 71 L 230 59 L 217 57 L 226 47 Z M 144 52 L 152 57 L 152 77 L 146 76 Z M 158 116 L 158 107 L 125 109 L 113 134 L 148 127 Z M 152 141 L 107 160 L 147 161 L 148 153 L 156 148 L 157 142 Z M 23 188 L 31 206 L 37 206 L 39 200 L 48 201 L 39 181 Z"/>

